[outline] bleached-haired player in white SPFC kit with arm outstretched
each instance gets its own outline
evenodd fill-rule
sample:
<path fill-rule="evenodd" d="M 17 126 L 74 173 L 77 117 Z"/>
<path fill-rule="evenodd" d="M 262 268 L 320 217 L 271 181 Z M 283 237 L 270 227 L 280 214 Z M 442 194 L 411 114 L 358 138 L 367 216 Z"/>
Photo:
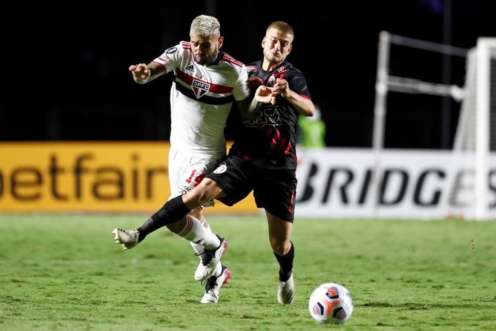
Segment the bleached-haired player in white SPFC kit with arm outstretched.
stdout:
<path fill-rule="evenodd" d="M 265 87 L 249 98 L 248 74 L 243 63 L 220 49 L 224 38 L 217 18 L 197 16 L 191 23 L 190 41 L 182 41 L 167 49 L 152 62 L 131 65 L 134 81 L 145 84 L 174 72 L 171 88 L 171 150 L 169 153 L 169 200 L 186 194 L 210 173 L 217 161 L 226 155 L 224 127 L 234 101 L 245 116 L 254 115 L 261 103 L 274 101 Z M 225 238 L 214 234 L 202 213 L 195 208 L 185 219 L 168 224 L 172 232 L 191 243 L 200 263 L 194 278 L 207 282 L 202 303 L 217 302 L 220 287 L 231 277 L 230 270 L 220 263 L 227 248 Z M 134 247 L 154 229 L 153 218 L 160 209 L 136 230 L 114 229 L 116 243 L 124 249 Z"/>

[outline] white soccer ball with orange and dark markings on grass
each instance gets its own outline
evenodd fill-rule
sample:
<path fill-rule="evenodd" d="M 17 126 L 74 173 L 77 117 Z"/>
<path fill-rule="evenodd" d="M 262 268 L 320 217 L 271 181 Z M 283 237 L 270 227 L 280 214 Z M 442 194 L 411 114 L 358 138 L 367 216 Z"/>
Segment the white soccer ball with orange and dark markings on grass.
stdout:
<path fill-rule="evenodd" d="M 343 285 L 324 283 L 310 294 L 309 311 L 318 323 L 344 323 L 353 313 L 353 298 Z"/>

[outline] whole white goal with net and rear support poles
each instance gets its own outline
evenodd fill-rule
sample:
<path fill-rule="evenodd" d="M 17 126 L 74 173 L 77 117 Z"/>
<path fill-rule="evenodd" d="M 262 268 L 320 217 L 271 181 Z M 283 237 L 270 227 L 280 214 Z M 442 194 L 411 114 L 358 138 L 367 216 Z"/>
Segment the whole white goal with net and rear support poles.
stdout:
<path fill-rule="evenodd" d="M 464 86 L 390 75 L 392 44 L 465 57 Z M 450 97 L 461 102 L 439 217 L 496 219 L 496 38 L 480 37 L 474 48 L 462 49 L 380 32 L 372 137 L 372 217 L 380 215 L 381 153 L 388 92 Z"/>

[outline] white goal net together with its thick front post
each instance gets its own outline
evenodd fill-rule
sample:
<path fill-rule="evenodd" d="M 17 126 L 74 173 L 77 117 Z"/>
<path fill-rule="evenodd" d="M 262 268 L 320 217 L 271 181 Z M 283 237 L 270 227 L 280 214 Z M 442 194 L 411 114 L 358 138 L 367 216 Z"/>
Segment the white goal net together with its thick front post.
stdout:
<path fill-rule="evenodd" d="M 448 216 L 496 217 L 496 38 L 479 38 L 466 61 L 465 93 L 447 180 Z"/>

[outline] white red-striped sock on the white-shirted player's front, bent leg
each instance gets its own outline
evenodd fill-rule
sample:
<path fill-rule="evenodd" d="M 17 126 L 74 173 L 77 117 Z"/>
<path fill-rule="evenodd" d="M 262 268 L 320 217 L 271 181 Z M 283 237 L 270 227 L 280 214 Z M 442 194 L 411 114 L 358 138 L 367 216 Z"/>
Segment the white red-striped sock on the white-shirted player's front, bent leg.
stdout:
<path fill-rule="evenodd" d="M 220 240 L 213 234 L 205 218 L 199 221 L 193 216 L 186 215 L 185 220 L 186 225 L 178 235 L 188 240 L 196 253 L 201 254 L 204 249 L 219 247 Z"/>

